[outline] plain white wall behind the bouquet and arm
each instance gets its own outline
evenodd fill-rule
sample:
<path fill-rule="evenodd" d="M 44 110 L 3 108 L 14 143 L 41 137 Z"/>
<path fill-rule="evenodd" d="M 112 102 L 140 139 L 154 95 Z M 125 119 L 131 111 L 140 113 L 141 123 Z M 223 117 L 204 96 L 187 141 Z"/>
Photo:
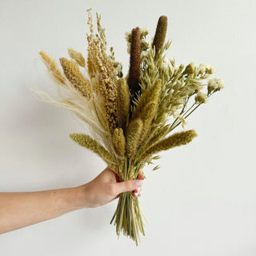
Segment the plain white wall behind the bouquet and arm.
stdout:
<path fill-rule="evenodd" d="M 145 168 L 140 199 L 146 236 L 136 247 L 110 225 L 117 201 L 83 209 L 0 236 L 0 255 L 256 255 L 255 25 L 256 2 L 244 1 L 0 1 L 0 191 L 82 185 L 105 167 L 69 138 L 83 132 L 66 110 L 38 101 L 34 82 L 51 91 L 38 52 L 58 60 L 67 47 L 86 54 L 86 10 L 102 14 L 108 47 L 126 73 L 126 31 L 154 36 L 169 19 L 169 58 L 211 64 L 226 89 L 187 120 L 198 138 L 162 152 Z M 1 220 L 0 220 L 1 221 Z"/>

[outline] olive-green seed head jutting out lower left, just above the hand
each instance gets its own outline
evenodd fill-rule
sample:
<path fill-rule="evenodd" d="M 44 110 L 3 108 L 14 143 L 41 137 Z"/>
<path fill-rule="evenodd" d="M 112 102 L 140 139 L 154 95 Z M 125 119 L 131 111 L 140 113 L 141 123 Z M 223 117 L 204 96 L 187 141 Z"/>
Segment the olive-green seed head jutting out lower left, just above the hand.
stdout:
<path fill-rule="evenodd" d="M 85 146 L 87 149 L 92 150 L 94 153 L 98 154 L 107 164 L 114 162 L 114 159 L 111 157 L 110 153 L 104 148 L 104 146 L 98 144 L 93 138 L 90 138 L 86 134 L 70 134 L 70 138 L 74 142 L 78 142 L 80 146 Z"/>

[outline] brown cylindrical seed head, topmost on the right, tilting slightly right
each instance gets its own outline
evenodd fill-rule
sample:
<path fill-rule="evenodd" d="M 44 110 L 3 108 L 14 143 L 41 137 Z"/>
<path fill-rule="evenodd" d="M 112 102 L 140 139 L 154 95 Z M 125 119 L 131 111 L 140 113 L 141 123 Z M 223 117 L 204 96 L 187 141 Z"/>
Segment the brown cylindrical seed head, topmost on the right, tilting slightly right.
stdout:
<path fill-rule="evenodd" d="M 152 47 L 155 49 L 155 55 L 158 54 L 158 51 L 162 48 L 166 39 L 166 30 L 167 30 L 167 17 L 160 16 L 158 19 L 158 26 L 155 30 L 154 41 Z"/>

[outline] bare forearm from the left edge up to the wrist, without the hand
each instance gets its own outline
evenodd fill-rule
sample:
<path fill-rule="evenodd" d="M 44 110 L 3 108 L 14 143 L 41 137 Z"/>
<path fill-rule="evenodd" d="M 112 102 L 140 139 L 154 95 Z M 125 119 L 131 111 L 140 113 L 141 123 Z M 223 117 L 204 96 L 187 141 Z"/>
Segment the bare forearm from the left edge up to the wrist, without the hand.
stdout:
<path fill-rule="evenodd" d="M 0 193 L 0 234 L 86 207 L 82 186 L 38 192 Z"/>

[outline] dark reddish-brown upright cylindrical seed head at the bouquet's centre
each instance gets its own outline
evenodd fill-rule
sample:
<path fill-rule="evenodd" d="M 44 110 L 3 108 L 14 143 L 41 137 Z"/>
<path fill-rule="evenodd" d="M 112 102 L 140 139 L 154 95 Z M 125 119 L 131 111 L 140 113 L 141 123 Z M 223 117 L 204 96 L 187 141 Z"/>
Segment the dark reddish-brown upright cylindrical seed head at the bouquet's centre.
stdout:
<path fill-rule="evenodd" d="M 131 103 L 135 94 L 140 92 L 140 62 L 141 62 L 141 33 L 138 27 L 132 30 L 130 45 L 130 69 L 128 86 L 131 94 Z"/>

